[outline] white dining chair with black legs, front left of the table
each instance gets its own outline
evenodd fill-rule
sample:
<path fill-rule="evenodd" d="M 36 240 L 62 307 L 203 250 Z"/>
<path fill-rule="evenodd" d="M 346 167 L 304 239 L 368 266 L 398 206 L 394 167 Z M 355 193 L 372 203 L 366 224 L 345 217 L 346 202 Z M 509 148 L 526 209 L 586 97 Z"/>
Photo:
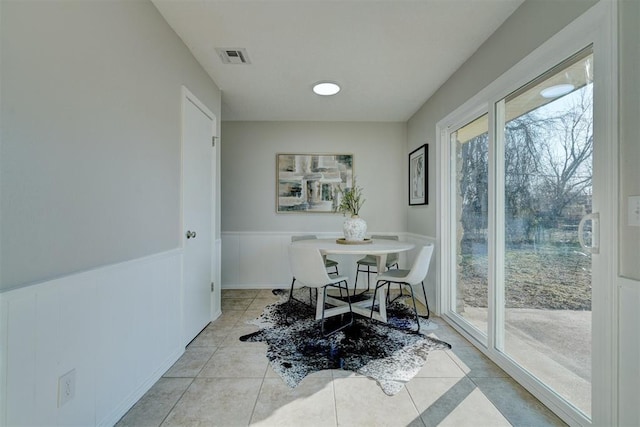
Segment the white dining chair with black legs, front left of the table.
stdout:
<path fill-rule="evenodd" d="M 302 285 L 309 288 L 316 288 L 316 320 L 320 320 L 320 330 L 322 335 L 328 336 L 334 334 L 353 324 L 353 311 L 351 309 L 351 297 L 349 296 L 349 286 L 347 277 L 329 276 L 325 268 L 324 259 L 320 250 L 308 246 L 289 246 L 289 262 L 293 277 Z M 346 291 L 346 304 L 340 304 L 336 307 L 326 308 L 327 288 L 334 287 L 340 289 L 340 297 L 343 296 L 342 291 Z M 320 288 L 321 292 L 320 292 Z M 347 323 L 342 323 L 333 330 L 325 331 L 325 320 L 329 317 L 340 316 L 349 313 Z M 343 319 L 344 320 L 344 319 Z"/>

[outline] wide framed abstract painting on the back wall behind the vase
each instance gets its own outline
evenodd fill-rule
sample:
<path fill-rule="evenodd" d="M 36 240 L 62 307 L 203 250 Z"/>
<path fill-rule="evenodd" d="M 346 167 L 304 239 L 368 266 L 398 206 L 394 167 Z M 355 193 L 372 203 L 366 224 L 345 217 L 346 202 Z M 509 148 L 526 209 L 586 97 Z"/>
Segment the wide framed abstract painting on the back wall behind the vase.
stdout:
<path fill-rule="evenodd" d="M 276 154 L 276 213 L 334 213 L 353 187 L 353 154 Z"/>

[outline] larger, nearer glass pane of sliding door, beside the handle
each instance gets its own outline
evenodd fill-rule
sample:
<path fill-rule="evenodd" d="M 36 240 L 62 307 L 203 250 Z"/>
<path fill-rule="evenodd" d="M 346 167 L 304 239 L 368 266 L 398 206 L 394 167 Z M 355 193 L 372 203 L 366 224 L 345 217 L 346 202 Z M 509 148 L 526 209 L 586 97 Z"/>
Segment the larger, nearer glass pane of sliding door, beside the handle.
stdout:
<path fill-rule="evenodd" d="M 504 117 L 504 310 L 498 349 L 591 415 L 593 58 L 581 52 L 498 103 Z M 586 230 L 588 233 L 588 230 Z"/>

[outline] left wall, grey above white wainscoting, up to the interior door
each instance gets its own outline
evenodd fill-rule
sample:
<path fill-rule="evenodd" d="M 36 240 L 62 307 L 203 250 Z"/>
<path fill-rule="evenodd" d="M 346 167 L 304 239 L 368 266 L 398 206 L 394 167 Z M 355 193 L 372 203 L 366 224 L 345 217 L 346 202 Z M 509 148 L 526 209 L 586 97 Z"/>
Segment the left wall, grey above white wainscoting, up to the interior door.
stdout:
<path fill-rule="evenodd" d="M 184 351 L 181 87 L 221 94 L 149 1 L 0 4 L 0 425 L 112 425 Z"/>

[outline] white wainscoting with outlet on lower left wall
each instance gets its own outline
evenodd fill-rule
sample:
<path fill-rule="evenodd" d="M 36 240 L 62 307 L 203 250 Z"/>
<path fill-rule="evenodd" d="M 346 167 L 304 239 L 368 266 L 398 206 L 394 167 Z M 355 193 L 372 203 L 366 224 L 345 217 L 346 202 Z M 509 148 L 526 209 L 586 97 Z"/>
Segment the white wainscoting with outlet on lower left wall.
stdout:
<path fill-rule="evenodd" d="M 0 425 L 113 425 L 180 357 L 179 250 L 0 294 Z M 75 370 L 75 397 L 58 379 Z"/>

